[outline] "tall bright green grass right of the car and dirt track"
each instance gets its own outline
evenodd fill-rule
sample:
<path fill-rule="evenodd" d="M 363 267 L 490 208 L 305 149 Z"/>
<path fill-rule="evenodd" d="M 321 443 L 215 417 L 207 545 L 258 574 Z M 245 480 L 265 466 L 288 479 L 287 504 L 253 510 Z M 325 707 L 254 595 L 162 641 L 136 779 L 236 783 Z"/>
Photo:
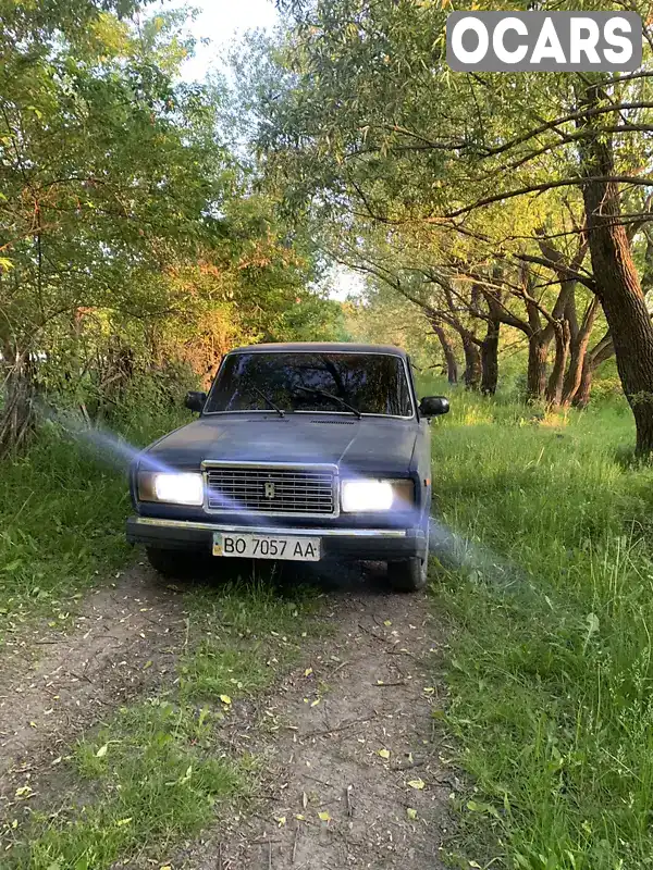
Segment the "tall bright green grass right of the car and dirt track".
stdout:
<path fill-rule="evenodd" d="M 433 431 L 434 592 L 475 791 L 456 866 L 650 868 L 653 470 L 624 459 L 630 414 L 452 406 Z"/>

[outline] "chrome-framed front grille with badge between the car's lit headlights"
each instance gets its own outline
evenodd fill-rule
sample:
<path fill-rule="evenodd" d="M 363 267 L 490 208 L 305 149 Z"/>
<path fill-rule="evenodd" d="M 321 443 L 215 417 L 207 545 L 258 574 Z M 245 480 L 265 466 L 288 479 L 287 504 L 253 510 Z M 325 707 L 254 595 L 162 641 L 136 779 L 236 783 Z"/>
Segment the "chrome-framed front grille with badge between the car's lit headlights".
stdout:
<path fill-rule="evenodd" d="M 222 465 L 207 471 L 209 510 L 221 513 L 335 513 L 331 469 Z"/>

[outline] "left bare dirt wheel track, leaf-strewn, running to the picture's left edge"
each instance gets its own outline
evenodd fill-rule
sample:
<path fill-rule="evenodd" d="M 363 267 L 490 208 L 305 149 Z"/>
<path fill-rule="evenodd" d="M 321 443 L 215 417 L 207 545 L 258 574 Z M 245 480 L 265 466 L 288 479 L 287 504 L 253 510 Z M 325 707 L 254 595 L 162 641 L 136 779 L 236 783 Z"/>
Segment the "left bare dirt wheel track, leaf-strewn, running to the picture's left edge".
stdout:
<path fill-rule="evenodd" d="M 72 631 L 9 637 L 0 671 L 0 816 L 16 782 L 51 766 L 89 725 L 169 679 L 183 647 L 183 596 L 144 567 L 100 586 Z"/>

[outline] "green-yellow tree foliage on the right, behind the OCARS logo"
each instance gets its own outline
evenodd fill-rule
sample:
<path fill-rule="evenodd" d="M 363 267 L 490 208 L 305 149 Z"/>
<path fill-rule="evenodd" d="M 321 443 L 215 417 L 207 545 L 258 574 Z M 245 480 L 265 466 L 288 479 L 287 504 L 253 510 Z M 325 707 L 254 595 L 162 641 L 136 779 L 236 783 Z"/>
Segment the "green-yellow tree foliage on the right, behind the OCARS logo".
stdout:
<path fill-rule="evenodd" d="M 596 8 L 593 0 L 581 5 Z M 476 371 L 473 348 L 482 346 L 485 324 L 501 323 L 508 343 L 515 331 L 531 341 L 529 397 L 546 393 L 553 403 L 574 397 L 584 402 L 587 384 L 575 376 L 562 382 L 566 371 L 582 370 L 582 361 L 576 366 L 572 359 L 583 347 L 577 340 L 581 324 L 590 347 L 605 332 L 592 294 L 604 302 L 611 293 L 619 297 L 606 304 L 608 312 L 628 310 L 628 282 L 607 284 L 604 268 L 592 276 L 588 261 L 601 259 L 597 235 L 587 237 L 591 257 L 579 240 L 583 224 L 595 222 L 590 187 L 595 201 L 607 196 L 599 190 L 604 176 L 629 182 L 609 194 L 611 209 L 633 231 L 630 243 L 612 231 L 619 236 L 616 248 L 627 251 L 615 258 L 615 275 L 621 263 L 637 284 L 637 266 L 644 288 L 650 285 L 651 243 L 642 232 L 649 204 L 641 184 L 651 126 L 648 74 L 604 83 L 599 74 L 454 73 L 445 62 L 445 4 L 317 0 L 285 7 L 288 25 L 278 42 L 249 46 L 256 57 L 246 67 L 243 105 L 254 104 L 256 144 L 287 211 L 312 220 L 331 256 L 368 275 L 370 296 L 385 283 L 408 299 L 416 331 L 432 324 L 454 331 L 468 372 Z M 645 18 L 644 5 L 641 12 Z M 648 46 L 644 52 L 648 64 Z M 607 161 L 601 166 L 597 142 Z M 567 304 L 569 294 L 574 301 Z M 641 322 L 633 315 L 628 326 L 642 335 L 638 353 L 649 358 L 653 330 L 639 288 L 633 296 Z M 563 349 L 567 327 L 570 358 Z M 618 318 L 611 327 L 621 328 Z M 628 359 L 626 338 L 614 347 L 623 377 L 643 371 Z M 549 351 L 559 355 L 559 374 L 547 386 L 551 372 L 538 377 L 538 353 Z M 490 390 L 493 378 L 486 378 Z M 651 393 L 650 377 L 626 393 Z M 638 444 L 645 451 L 644 413 L 640 407 Z"/>

